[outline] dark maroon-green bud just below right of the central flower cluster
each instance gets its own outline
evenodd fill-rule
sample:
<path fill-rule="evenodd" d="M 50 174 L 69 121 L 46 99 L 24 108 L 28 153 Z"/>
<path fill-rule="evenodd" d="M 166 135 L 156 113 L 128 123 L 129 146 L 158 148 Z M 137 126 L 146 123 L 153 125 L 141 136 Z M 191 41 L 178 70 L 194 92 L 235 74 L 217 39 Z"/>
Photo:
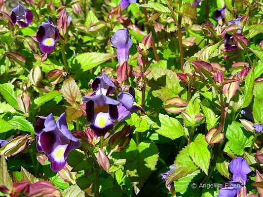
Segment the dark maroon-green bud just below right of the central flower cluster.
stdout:
<path fill-rule="evenodd" d="M 109 145 L 112 149 L 116 149 L 115 152 L 124 150 L 132 138 L 132 133 L 135 130 L 134 126 L 126 126 L 121 131 L 118 131 L 109 139 Z"/>

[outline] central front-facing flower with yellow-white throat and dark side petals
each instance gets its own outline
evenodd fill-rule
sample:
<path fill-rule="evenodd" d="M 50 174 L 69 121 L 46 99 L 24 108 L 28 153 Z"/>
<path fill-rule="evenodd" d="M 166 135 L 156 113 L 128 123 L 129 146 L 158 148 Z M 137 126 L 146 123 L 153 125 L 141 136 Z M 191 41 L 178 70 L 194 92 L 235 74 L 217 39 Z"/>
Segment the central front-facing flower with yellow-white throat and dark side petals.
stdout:
<path fill-rule="evenodd" d="M 117 104 L 119 102 L 102 94 L 82 97 L 82 101 L 86 102 L 89 127 L 97 136 L 104 136 L 109 129 L 113 128 L 114 121 L 118 119 Z"/>

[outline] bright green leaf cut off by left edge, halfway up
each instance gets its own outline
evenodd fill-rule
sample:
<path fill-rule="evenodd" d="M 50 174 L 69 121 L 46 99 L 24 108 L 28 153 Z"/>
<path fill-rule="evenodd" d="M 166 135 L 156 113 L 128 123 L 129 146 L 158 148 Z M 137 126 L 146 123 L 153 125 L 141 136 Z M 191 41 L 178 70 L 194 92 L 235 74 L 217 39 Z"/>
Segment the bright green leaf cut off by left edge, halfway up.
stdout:
<path fill-rule="evenodd" d="M 14 92 L 14 85 L 11 83 L 0 84 L 0 93 L 3 98 L 8 102 L 12 107 L 18 109 L 17 107 L 17 95 Z"/>

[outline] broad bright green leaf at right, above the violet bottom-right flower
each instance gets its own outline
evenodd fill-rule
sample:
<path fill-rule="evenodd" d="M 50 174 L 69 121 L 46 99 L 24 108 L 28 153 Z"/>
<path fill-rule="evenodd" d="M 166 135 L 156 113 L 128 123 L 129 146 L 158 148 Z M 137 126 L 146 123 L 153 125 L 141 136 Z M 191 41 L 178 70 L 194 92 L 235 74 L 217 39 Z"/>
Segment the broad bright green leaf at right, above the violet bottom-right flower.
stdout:
<path fill-rule="evenodd" d="M 242 124 L 235 121 L 227 126 L 225 136 L 229 140 L 229 148 L 236 155 L 243 155 L 244 148 L 250 146 L 253 139 L 253 133 L 245 131 Z"/>

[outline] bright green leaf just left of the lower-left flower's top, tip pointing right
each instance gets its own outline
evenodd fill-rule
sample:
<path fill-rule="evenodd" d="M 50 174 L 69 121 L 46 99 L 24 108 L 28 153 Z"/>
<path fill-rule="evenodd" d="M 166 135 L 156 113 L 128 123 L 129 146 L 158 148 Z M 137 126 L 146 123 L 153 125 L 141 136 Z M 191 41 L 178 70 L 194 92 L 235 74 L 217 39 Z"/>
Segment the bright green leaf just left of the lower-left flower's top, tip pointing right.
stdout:
<path fill-rule="evenodd" d="M 15 126 L 18 130 L 29 131 L 32 134 L 35 133 L 32 124 L 23 116 L 14 116 L 11 120 L 8 121 L 8 123 Z"/>

